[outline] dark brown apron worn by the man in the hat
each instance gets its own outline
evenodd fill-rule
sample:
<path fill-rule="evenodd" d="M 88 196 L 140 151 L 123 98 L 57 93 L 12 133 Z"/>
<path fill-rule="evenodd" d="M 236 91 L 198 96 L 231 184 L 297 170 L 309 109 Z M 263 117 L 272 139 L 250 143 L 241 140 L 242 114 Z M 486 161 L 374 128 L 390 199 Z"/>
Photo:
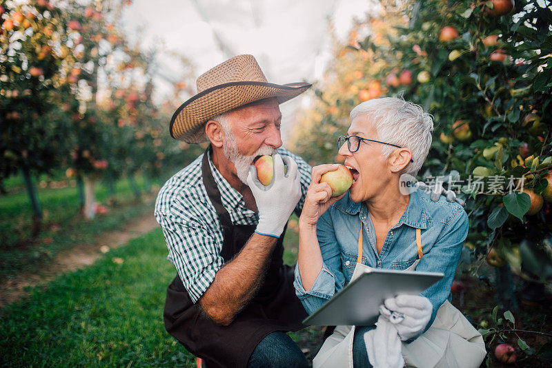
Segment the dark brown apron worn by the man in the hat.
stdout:
<path fill-rule="evenodd" d="M 221 256 L 231 260 L 255 232 L 256 225 L 233 225 L 221 203 L 220 192 L 211 173 L 208 154 L 201 165 L 204 185 L 222 225 L 224 242 Z M 284 229 L 284 233 L 286 229 Z M 165 327 L 188 351 L 211 367 L 246 367 L 257 344 L 273 331 L 297 331 L 307 314 L 295 296 L 293 267 L 284 265 L 284 233 L 268 265 L 264 281 L 250 303 L 227 327 L 206 317 L 199 303 L 193 303 L 178 274 L 167 288 Z"/>

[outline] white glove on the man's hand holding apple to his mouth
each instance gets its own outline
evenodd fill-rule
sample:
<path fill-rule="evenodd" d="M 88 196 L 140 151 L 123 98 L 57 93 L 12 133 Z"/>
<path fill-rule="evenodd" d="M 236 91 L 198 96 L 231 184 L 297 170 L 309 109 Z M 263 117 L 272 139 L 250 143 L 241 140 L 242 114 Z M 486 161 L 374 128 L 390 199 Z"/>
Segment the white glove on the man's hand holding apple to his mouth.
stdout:
<path fill-rule="evenodd" d="M 259 212 L 257 234 L 279 236 L 284 231 L 289 216 L 301 198 L 301 183 L 297 163 L 289 156 L 274 154 L 273 181 L 266 187 L 257 178 L 257 169 L 251 165 L 247 176 L 249 185 Z M 284 174 L 284 161 L 288 171 Z"/>

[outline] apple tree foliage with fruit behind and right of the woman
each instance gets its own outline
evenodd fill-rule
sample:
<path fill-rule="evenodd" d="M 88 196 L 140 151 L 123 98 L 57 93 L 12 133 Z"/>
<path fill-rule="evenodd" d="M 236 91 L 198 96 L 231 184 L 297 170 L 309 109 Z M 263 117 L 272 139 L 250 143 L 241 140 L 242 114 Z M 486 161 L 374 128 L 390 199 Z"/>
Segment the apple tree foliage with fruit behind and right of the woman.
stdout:
<path fill-rule="evenodd" d="M 339 159 L 332 154 L 335 137 L 348 126 L 346 114 L 378 96 L 361 91 L 404 94 L 435 118 L 438 139 L 424 178 L 441 176 L 469 195 L 475 247 L 467 259 L 478 266 L 495 248 L 522 277 L 552 280 L 552 248 L 544 241 L 552 231 L 552 204 L 543 205 L 541 195 L 552 185 L 546 180 L 552 167 L 550 2 L 516 1 L 500 17 L 489 14 L 492 1 L 407 1 L 398 12 L 395 5 L 383 1 L 382 12 L 358 26 L 366 37 L 353 32 L 337 49 L 317 90 L 320 101 L 296 134 L 296 149 L 318 163 Z M 453 30 L 443 35 L 444 28 Z M 318 145 L 328 150 L 317 157 L 308 147 Z M 520 252 L 523 241 L 534 246 Z M 538 267 L 530 269 L 530 259 Z"/>

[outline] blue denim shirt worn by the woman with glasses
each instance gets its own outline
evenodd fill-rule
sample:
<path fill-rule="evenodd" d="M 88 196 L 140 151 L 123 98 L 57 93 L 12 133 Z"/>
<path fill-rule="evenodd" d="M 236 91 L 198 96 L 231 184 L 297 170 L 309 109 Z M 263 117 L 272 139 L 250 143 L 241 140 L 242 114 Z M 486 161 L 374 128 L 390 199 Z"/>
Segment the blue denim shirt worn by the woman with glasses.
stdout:
<path fill-rule="evenodd" d="M 324 264 L 308 292 L 301 282 L 299 267 L 295 267 L 293 285 L 308 314 L 351 281 L 357 263 L 360 221 L 362 263 L 380 269 L 404 270 L 413 265 L 418 258 L 416 229 L 422 229 L 423 256 L 416 271 L 444 273 L 444 278 L 421 294 L 433 305 L 428 329 L 444 300 L 451 300 L 451 285 L 462 244 L 468 235 L 466 212 L 461 205 L 447 202 L 444 196 L 433 202 L 428 193 L 414 191 L 402 217 L 388 231 L 382 251 L 377 254 L 375 230 L 368 208 L 364 203 L 351 201 L 346 194 L 318 220 L 317 238 Z"/>

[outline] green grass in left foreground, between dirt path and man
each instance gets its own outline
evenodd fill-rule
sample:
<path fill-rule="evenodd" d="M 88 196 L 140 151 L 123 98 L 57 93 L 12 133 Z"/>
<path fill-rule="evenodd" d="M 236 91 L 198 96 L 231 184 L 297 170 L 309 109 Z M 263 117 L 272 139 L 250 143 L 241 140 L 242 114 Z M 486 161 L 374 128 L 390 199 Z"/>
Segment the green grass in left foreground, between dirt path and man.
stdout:
<path fill-rule="evenodd" d="M 175 275 L 166 254 L 156 229 L 8 305 L 0 311 L 0 365 L 193 367 L 163 324 Z"/>

